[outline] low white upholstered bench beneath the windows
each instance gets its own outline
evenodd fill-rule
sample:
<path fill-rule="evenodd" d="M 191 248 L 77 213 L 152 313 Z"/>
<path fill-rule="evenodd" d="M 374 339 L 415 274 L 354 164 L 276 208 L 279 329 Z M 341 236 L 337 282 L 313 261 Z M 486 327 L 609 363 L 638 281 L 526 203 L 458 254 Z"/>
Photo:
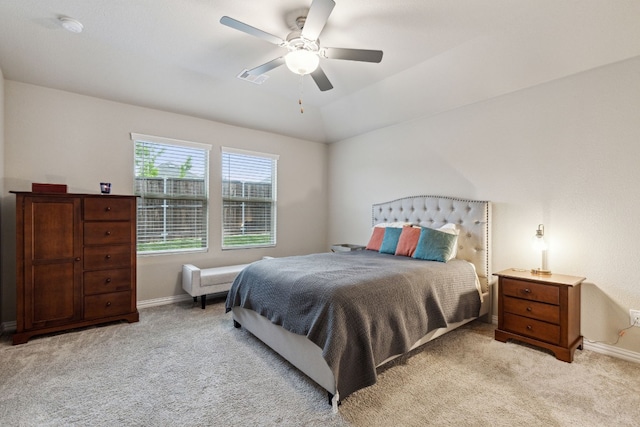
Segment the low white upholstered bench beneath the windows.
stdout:
<path fill-rule="evenodd" d="M 238 273 L 249 264 L 227 265 L 200 269 L 192 264 L 182 266 L 182 289 L 202 303 L 207 304 L 207 294 L 228 292 Z"/>

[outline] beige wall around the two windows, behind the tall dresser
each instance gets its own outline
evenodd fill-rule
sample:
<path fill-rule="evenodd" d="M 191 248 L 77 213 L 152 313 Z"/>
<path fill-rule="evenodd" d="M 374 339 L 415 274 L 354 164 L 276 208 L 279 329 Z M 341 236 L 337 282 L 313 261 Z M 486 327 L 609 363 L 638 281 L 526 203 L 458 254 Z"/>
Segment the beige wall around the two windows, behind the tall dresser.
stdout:
<path fill-rule="evenodd" d="M 5 81 L 5 191 L 2 229 L 3 319 L 15 319 L 15 200 L 10 190 L 32 182 L 62 183 L 69 192 L 114 194 L 133 190 L 130 132 L 211 144 L 208 253 L 138 257 L 138 301 L 183 294 L 184 263 L 200 267 L 326 251 L 327 146 L 222 123 Z M 275 248 L 220 249 L 220 147 L 279 154 L 278 244 Z M 1 162 L 0 162 L 1 163 Z"/>

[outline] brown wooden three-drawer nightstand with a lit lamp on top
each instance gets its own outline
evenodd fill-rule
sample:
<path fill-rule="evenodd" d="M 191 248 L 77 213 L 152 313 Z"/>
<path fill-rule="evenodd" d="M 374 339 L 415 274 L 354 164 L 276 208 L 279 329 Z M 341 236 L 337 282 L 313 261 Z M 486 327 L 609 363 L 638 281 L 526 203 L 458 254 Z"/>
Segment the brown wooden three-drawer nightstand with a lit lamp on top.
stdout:
<path fill-rule="evenodd" d="M 585 278 L 517 269 L 494 276 L 498 276 L 495 339 L 546 348 L 557 359 L 571 363 L 576 348 L 582 349 L 580 284 Z"/>

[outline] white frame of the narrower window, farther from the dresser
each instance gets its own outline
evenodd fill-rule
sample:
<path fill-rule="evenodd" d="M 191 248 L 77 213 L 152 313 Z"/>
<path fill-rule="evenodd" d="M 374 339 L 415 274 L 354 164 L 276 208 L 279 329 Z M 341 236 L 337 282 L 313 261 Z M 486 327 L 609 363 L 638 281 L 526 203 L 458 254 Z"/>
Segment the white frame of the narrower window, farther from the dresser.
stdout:
<path fill-rule="evenodd" d="M 228 197 L 225 195 L 225 155 L 240 155 L 240 156 L 248 156 L 248 157 L 256 157 L 262 160 L 271 161 L 271 198 L 268 202 L 270 204 L 271 211 L 271 241 L 268 243 L 256 243 L 256 244 L 242 244 L 242 245 L 225 245 L 225 237 L 227 235 L 225 230 L 225 206 L 229 201 L 240 201 L 239 198 Z M 220 247 L 223 251 L 226 250 L 237 250 L 237 249 L 256 249 L 256 248 L 271 248 L 275 247 L 277 244 L 277 212 L 278 212 L 278 160 L 280 156 L 278 154 L 264 153 L 252 150 L 242 150 L 238 148 L 231 147 L 220 147 L 220 166 L 221 166 L 221 238 L 220 238 Z M 255 199 L 251 200 L 250 198 L 246 199 L 249 202 L 253 203 L 266 203 L 264 200 Z"/>

